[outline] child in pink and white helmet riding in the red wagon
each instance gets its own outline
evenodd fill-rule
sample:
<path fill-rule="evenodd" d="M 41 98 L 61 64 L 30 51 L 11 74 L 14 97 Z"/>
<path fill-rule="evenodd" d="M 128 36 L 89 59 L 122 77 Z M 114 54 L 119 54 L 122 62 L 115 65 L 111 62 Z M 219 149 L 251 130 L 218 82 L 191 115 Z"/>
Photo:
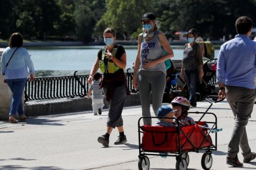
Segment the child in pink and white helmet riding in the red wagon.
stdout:
<path fill-rule="evenodd" d="M 173 101 L 171 101 L 171 105 L 173 106 L 174 116 L 179 120 L 180 126 L 186 126 L 190 124 L 195 124 L 193 118 L 187 116 L 190 103 L 185 97 L 175 97 Z"/>

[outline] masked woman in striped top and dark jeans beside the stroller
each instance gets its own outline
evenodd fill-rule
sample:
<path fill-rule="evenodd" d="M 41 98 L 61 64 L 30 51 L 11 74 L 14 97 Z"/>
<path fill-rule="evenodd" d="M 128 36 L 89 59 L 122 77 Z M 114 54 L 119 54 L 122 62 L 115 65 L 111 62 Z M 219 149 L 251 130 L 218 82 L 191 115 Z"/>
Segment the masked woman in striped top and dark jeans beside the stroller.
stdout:
<path fill-rule="evenodd" d="M 203 77 L 203 57 L 200 45 L 195 42 L 196 33 L 193 29 L 187 33 L 187 40 L 189 43 L 185 44 L 181 77 L 186 80 L 187 88 L 189 90 L 190 107 L 197 107 L 197 81 L 202 83 Z"/>

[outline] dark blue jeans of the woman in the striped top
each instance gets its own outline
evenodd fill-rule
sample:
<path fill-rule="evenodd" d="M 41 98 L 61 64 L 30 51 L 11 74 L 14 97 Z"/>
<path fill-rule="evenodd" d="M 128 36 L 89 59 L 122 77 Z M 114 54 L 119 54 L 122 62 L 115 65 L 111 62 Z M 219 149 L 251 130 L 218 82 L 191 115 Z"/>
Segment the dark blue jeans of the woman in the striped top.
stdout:
<path fill-rule="evenodd" d="M 196 106 L 197 99 L 195 93 L 197 92 L 198 70 L 195 69 L 184 71 L 187 82 L 187 88 L 189 89 L 189 102 L 192 106 Z"/>

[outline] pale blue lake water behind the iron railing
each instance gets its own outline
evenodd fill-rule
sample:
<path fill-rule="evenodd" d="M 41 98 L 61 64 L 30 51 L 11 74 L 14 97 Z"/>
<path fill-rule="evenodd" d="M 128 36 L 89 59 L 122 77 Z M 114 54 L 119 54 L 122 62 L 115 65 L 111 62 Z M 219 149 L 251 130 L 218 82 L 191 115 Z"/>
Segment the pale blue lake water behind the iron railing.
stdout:
<path fill-rule="evenodd" d="M 27 47 L 32 55 L 36 70 L 36 77 L 41 76 L 67 76 L 87 75 L 90 73 L 96 55 L 102 46 L 62 46 L 62 47 Z M 137 55 L 137 46 L 124 46 L 127 55 L 127 67 L 132 68 Z M 174 60 L 182 59 L 184 46 L 172 46 Z M 218 56 L 219 49 L 215 49 Z"/>

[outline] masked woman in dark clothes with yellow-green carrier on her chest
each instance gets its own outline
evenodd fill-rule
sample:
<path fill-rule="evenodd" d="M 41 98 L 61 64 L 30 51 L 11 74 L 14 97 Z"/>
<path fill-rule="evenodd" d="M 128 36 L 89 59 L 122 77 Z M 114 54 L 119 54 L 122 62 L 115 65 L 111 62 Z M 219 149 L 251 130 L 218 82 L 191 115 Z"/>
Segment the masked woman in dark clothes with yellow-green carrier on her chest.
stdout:
<path fill-rule="evenodd" d="M 93 76 L 98 68 L 103 72 L 103 79 L 100 87 L 103 91 L 106 100 L 109 102 L 108 121 L 106 124 L 106 134 L 98 137 L 98 142 L 105 147 L 109 145 L 109 136 L 112 130 L 117 127 L 119 137 L 114 142 L 115 145 L 124 144 L 127 142 L 124 135 L 122 109 L 126 95 L 130 94 L 127 87 L 126 75 L 124 75 L 124 68 L 126 68 L 126 51 L 124 47 L 116 44 L 116 31 L 113 28 L 106 28 L 103 33 L 106 47 L 100 49 L 96 61 L 90 72 L 88 83 L 92 83 Z"/>

